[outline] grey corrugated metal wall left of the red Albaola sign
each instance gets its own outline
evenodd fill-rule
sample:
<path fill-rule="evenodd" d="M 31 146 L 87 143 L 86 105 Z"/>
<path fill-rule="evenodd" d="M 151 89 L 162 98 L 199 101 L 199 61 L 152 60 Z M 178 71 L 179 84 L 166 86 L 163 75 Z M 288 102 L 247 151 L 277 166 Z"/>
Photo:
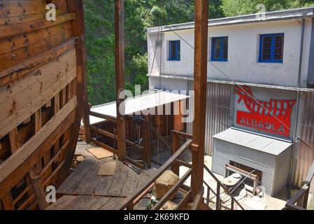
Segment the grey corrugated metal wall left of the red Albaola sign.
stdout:
<path fill-rule="evenodd" d="M 193 90 L 193 81 L 187 83 L 187 90 Z M 229 84 L 207 83 L 205 153 L 212 155 L 213 135 L 226 130 L 232 124 L 234 87 Z M 192 134 L 193 124 L 187 123 L 187 133 Z"/>

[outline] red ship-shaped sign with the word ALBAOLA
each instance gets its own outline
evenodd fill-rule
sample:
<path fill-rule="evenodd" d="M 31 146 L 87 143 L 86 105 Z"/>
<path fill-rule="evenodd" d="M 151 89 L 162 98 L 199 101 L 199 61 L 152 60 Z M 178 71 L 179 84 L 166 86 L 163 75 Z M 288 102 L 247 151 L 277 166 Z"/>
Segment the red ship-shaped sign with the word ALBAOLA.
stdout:
<path fill-rule="evenodd" d="M 295 100 L 270 99 L 269 102 L 256 101 L 253 99 L 249 87 L 236 87 L 238 103 L 244 102 L 250 112 L 237 111 L 236 123 L 241 126 L 262 130 L 283 137 L 290 137 L 290 117 Z"/>

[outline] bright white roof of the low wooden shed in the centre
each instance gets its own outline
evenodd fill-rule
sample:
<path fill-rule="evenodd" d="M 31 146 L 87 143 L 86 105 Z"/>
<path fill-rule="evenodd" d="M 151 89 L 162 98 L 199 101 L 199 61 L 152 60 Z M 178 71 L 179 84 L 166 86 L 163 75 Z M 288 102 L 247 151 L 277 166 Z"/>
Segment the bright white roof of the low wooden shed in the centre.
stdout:
<path fill-rule="evenodd" d="M 139 111 L 144 111 L 157 106 L 162 106 L 172 102 L 178 102 L 180 100 L 187 99 L 187 95 L 176 94 L 173 92 L 155 92 L 152 94 L 144 94 L 140 97 L 128 98 L 125 103 L 125 114 L 132 114 Z M 93 106 L 91 111 L 101 113 L 107 116 L 117 117 L 117 110 L 115 102 L 110 102 L 108 104 L 101 104 L 98 106 Z M 96 118 L 90 116 L 90 124 L 99 123 L 104 121 L 102 118 Z"/>

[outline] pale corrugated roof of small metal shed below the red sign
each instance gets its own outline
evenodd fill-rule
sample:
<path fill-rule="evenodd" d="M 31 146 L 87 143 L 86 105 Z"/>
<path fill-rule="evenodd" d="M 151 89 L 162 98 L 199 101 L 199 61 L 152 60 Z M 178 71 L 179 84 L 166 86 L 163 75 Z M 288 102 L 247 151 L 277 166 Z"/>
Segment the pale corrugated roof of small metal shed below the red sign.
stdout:
<path fill-rule="evenodd" d="M 244 132 L 234 128 L 224 130 L 213 137 L 272 155 L 279 155 L 292 145 L 290 141 L 273 139 L 271 137 L 254 134 L 252 132 Z"/>

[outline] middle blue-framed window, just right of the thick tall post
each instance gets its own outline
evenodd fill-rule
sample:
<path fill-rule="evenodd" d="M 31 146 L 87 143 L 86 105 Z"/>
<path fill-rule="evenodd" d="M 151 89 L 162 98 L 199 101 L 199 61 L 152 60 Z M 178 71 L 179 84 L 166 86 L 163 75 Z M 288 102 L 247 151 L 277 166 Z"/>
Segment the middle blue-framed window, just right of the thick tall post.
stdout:
<path fill-rule="evenodd" d="M 211 48 L 211 60 L 218 62 L 228 61 L 228 36 L 213 37 Z"/>

